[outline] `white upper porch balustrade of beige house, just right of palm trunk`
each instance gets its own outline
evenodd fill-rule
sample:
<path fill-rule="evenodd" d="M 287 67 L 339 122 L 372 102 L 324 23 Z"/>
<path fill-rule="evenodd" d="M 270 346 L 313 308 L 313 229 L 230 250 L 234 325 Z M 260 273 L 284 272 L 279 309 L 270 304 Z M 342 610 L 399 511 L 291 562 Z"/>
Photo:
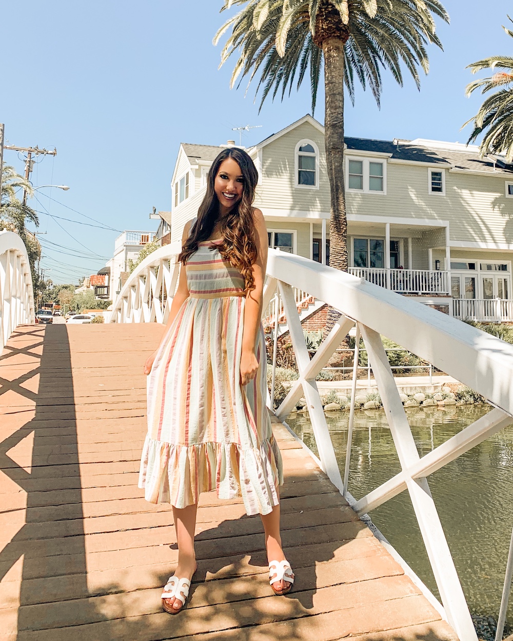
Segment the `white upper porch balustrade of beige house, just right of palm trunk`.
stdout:
<path fill-rule="evenodd" d="M 349 274 L 399 294 L 444 294 L 450 292 L 450 272 L 428 269 L 377 269 L 349 267 Z"/>

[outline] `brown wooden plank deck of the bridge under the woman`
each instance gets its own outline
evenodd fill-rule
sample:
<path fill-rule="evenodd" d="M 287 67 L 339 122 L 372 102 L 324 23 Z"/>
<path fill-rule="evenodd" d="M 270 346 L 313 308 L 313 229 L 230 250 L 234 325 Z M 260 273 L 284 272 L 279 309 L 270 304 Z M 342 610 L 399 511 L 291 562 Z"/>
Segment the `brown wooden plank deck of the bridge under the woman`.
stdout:
<path fill-rule="evenodd" d="M 0 357 L 0 638 L 17 641 L 456 641 L 281 424 L 282 528 L 296 572 L 271 594 L 258 517 L 201 496 L 187 608 L 169 506 L 137 488 L 142 363 L 156 324 L 24 326 Z"/>

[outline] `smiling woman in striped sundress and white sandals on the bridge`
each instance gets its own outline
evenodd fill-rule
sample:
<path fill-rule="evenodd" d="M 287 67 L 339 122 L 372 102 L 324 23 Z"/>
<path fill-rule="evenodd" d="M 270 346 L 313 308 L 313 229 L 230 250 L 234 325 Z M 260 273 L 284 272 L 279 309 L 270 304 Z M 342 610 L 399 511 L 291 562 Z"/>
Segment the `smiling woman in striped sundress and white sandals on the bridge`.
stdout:
<path fill-rule="evenodd" d="M 271 587 L 286 594 L 294 583 L 280 538 L 282 458 L 264 402 L 267 231 L 251 206 L 257 179 L 236 147 L 212 163 L 198 219 L 183 231 L 167 331 L 144 366 L 148 434 L 139 487 L 147 501 L 172 504 L 178 566 L 162 594 L 172 614 L 183 608 L 196 571 L 200 492 L 242 495 L 248 515 L 262 517 Z"/>

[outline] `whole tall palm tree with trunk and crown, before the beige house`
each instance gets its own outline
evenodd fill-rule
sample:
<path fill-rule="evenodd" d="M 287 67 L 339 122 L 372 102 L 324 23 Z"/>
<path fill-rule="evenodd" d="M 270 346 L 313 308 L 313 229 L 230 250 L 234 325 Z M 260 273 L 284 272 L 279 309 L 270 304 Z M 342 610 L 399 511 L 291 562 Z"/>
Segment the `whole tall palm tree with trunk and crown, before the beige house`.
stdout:
<path fill-rule="evenodd" d="M 354 101 L 355 81 L 368 85 L 379 105 L 382 69 L 403 85 L 404 65 L 419 87 L 417 68 L 428 72 L 426 45 L 442 47 L 433 15 L 448 22 L 448 13 L 439 0 L 224 0 L 221 11 L 237 4 L 245 6 L 219 29 L 214 44 L 231 29 L 221 65 L 232 54 L 239 56 L 232 87 L 239 76 L 251 82 L 260 71 L 260 108 L 269 94 L 274 99 L 281 90 L 283 100 L 287 90 L 290 94 L 308 76 L 313 113 L 324 64 L 330 265 L 346 271 L 344 86 Z"/>

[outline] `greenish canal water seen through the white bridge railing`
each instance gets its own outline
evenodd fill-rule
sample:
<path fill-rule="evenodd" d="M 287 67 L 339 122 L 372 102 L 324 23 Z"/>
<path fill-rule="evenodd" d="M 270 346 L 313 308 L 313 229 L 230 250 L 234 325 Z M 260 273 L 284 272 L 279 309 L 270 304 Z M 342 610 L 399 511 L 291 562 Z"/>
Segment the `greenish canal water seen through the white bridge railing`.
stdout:
<path fill-rule="evenodd" d="M 489 412 L 485 404 L 411 408 L 408 421 L 423 456 Z M 326 415 L 341 473 L 349 412 Z M 287 424 L 317 454 L 308 415 Z M 400 471 L 383 410 L 355 412 L 349 492 L 359 499 Z M 428 478 L 471 613 L 497 619 L 513 525 L 513 426 Z M 374 524 L 439 598 L 407 490 L 370 513 Z M 513 595 L 507 622 L 513 624 Z"/>

